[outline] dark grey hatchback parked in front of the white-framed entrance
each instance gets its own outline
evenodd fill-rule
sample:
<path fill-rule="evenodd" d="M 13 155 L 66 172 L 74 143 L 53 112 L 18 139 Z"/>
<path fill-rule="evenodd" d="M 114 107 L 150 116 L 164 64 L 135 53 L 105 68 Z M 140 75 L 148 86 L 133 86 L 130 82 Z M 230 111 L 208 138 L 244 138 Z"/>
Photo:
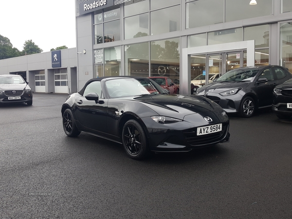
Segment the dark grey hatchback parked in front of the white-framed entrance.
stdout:
<path fill-rule="evenodd" d="M 274 87 L 290 78 L 292 74 L 281 66 L 237 68 L 199 88 L 197 95 L 213 100 L 227 113 L 251 117 L 256 109 L 271 107 Z"/>

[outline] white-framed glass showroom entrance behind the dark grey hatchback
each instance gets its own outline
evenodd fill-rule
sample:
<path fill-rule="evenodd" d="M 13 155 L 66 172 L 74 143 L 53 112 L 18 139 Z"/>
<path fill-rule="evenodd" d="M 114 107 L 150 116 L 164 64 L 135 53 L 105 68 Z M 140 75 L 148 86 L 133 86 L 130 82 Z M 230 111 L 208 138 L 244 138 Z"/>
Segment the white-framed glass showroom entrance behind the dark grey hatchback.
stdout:
<path fill-rule="evenodd" d="M 221 74 L 241 66 L 254 66 L 255 40 L 183 48 L 180 68 L 181 94 L 191 93 L 190 81 L 195 78 L 195 75 L 207 74 L 211 71 L 210 57 L 213 58 L 213 66 L 217 65 L 217 72 Z"/>

